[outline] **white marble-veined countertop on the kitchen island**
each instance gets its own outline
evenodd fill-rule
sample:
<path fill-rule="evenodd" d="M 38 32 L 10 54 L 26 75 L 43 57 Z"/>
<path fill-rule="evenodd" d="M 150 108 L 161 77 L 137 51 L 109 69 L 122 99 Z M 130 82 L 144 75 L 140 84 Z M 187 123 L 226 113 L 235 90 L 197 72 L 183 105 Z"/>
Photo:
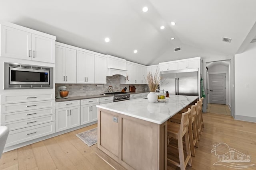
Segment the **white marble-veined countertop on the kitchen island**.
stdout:
<path fill-rule="evenodd" d="M 166 102 L 150 103 L 148 99 L 139 98 L 101 104 L 97 105 L 97 107 L 145 121 L 162 124 L 198 98 L 198 96 L 181 95 L 169 95 L 169 97 Z"/>

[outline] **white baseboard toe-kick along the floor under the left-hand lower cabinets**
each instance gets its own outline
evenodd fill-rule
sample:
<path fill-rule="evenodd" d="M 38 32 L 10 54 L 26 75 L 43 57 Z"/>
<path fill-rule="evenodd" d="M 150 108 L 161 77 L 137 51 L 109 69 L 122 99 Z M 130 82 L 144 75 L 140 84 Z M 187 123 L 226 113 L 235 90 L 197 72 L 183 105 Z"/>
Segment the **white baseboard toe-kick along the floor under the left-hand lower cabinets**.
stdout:
<path fill-rule="evenodd" d="M 12 145 L 10 147 L 4 148 L 3 152 L 8 152 L 10 150 L 18 149 L 18 148 L 24 147 L 26 145 L 30 145 L 32 143 L 36 143 L 36 142 L 40 142 L 40 141 L 43 141 L 43 140 L 46 140 L 46 139 L 49 139 L 49 138 L 52 138 L 52 137 L 56 137 L 58 135 L 62 135 L 64 133 L 68 133 L 68 132 L 71 132 L 71 131 L 74 131 L 74 130 L 77 130 L 77 129 L 81 129 L 83 127 L 90 126 L 90 125 L 93 125 L 93 124 L 96 124 L 96 123 L 98 123 L 98 121 L 94 121 L 94 122 L 91 122 L 91 123 L 88 123 L 88 124 L 85 124 L 85 125 L 81 125 L 81 126 L 78 126 L 78 127 L 73 127 L 71 129 L 66 129 L 64 131 L 52 133 L 50 135 L 47 135 L 47 136 L 44 136 L 44 137 L 40 137 L 40 138 L 37 138 L 37 139 L 33 139 L 31 141 L 26 141 L 26 142 L 23 142 L 23 143 L 19 143 L 17 145 Z"/>

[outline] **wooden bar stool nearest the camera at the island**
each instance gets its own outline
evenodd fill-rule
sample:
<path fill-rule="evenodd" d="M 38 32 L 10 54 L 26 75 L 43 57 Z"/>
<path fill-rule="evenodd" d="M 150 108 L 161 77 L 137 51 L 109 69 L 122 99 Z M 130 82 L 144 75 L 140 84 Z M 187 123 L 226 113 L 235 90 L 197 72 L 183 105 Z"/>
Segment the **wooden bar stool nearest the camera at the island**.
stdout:
<path fill-rule="evenodd" d="M 179 153 L 179 162 L 167 158 L 167 160 L 178 167 L 181 170 L 185 170 L 187 164 L 192 166 L 192 159 L 191 159 L 191 152 L 190 152 L 190 144 L 189 144 L 189 137 L 188 137 L 188 124 L 190 119 L 190 111 L 191 109 L 188 108 L 188 111 L 182 113 L 181 122 L 174 123 L 168 121 L 168 147 L 172 147 L 170 144 L 171 139 L 178 140 L 178 153 Z M 184 158 L 183 152 L 183 140 L 182 138 L 185 137 L 185 145 L 186 145 L 186 158 Z M 175 147 L 174 147 L 175 148 Z"/>

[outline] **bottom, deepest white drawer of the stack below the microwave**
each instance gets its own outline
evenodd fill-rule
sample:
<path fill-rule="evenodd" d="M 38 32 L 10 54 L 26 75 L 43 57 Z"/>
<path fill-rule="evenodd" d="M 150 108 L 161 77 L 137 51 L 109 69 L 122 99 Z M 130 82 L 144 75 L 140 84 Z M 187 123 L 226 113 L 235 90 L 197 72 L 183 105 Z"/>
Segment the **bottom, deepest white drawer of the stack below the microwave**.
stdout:
<path fill-rule="evenodd" d="M 55 133 L 55 123 L 54 121 L 49 123 L 44 123 L 41 125 L 35 125 L 31 127 L 26 127 L 14 131 L 10 131 L 5 147 L 10 147 L 19 143 L 30 141 L 39 137 L 50 135 Z"/>

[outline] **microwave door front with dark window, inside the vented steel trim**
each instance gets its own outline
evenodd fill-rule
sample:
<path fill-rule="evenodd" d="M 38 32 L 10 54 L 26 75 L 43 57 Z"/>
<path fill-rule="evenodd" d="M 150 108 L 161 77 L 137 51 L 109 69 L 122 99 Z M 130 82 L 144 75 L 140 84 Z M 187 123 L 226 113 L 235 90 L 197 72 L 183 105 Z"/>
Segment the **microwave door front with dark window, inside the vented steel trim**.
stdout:
<path fill-rule="evenodd" d="M 50 71 L 9 67 L 9 84 L 50 85 Z"/>

